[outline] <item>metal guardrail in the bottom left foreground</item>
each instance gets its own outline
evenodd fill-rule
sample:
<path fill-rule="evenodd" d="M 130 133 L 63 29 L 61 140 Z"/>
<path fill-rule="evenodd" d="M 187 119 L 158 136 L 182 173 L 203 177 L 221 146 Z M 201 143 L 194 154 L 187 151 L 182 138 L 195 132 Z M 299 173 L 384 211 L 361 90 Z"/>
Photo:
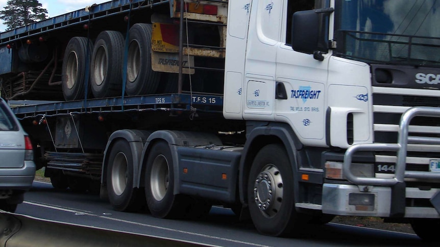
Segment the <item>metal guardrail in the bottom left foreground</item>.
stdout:
<path fill-rule="evenodd" d="M 0 211 L 0 245 L 6 247 L 214 246 L 178 239 L 47 221 L 4 211 Z"/>

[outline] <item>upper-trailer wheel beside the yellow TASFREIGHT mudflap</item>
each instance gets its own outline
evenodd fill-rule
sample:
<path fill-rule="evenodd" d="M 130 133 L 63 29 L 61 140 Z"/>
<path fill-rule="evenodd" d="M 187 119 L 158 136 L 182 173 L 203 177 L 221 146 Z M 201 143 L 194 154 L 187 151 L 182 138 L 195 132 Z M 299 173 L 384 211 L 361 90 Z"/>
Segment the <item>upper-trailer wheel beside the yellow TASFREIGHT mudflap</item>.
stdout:
<path fill-rule="evenodd" d="M 159 86 L 160 72 L 151 68 L 152 25 L 137 23 L 130 29 L 127 84 L 128 95 L 154 94 Z"/>

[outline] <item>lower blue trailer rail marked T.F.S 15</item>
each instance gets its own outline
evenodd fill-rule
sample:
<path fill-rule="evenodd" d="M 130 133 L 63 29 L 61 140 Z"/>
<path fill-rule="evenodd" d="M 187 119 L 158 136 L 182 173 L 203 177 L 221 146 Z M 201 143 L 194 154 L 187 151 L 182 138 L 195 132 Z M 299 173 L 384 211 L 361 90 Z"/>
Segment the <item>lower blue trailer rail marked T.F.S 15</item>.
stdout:
<path fill-rule="evenodd" d="M 59 101 L 32 105 L 27 105 L 26 102 L 27 101 L 9 102 L 12 105 L 12 111 L 19 119 L 70 113 L 111 113 L 129 111 L 179 110 L 222 113 L 223 96 L 161 94 Z"/>

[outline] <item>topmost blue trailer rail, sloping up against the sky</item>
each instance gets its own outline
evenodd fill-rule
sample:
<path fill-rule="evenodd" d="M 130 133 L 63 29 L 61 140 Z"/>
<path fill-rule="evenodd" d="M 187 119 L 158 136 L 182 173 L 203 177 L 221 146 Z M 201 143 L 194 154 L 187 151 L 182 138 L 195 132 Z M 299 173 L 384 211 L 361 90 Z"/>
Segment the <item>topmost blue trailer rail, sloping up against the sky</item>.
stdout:
<path fill-rule="evenodd" d="M 99 5 L 92 5 L 89 11 L 86 11 L 84 8 L 0 33 L 0 45 L 34 35 L 41 35 L 52 30 L 66 28 L 67 26 L 86 24 L 89 21 L 110 15 L 128 13 L 136 9 L 154 8 L 158 5 L 169 4 L 169 1 L 170 0 L 114 0 Z"/>

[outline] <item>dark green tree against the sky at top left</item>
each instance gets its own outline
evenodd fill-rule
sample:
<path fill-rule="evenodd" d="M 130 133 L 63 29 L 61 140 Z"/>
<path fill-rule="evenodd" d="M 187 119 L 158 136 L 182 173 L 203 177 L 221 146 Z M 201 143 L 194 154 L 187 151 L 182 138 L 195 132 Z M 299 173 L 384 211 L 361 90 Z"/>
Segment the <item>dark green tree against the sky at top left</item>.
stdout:
<path fill-rule="evenodd" d="M 18 28 L 39 20 L 46 19 L 47 10 L 38 0 L 9 0 L 4 10 L 0 11 L 0 19 L 6 30 Z"/>

